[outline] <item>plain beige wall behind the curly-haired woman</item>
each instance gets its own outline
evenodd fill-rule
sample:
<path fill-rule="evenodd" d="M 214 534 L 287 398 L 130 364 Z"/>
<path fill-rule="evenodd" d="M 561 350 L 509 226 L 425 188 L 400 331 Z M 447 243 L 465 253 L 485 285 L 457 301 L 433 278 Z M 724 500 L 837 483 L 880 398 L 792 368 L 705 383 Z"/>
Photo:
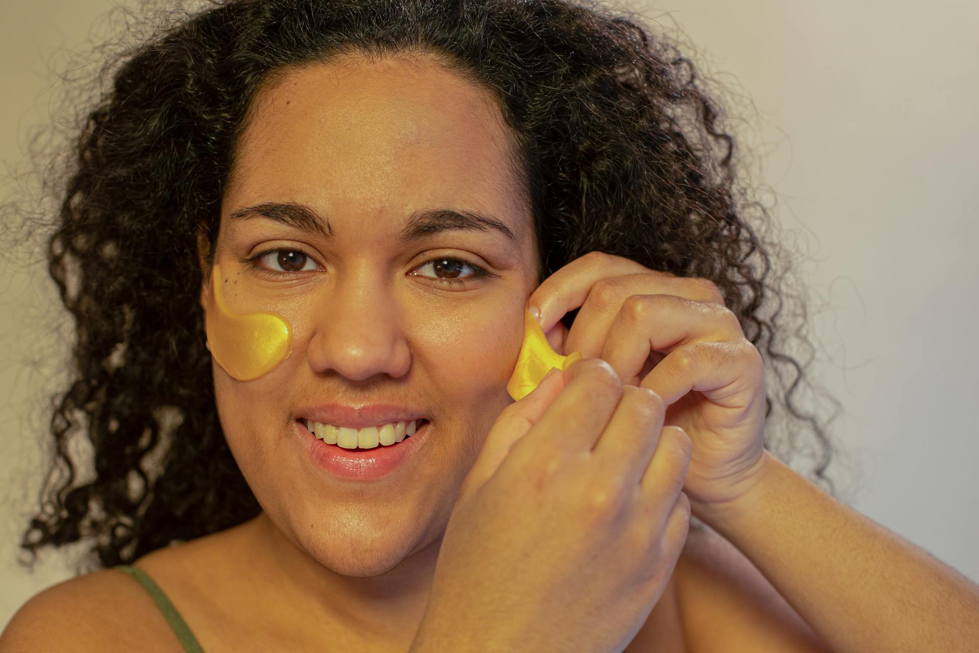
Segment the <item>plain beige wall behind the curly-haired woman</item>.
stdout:
<path fill-rule="evenodd" d="M 31 127 L 58 109 L 49 68 L 117 32 L 121 14 L 105 15 L 119 5 L 132 3 L 4 0 L 4 172 L 26 171 Z M 732 126 L 769 186 L 763 201 L 806 256 L 810 373 L 846 410 L 830 427 L 852 459 L 832 468 L 841 498 L 979 581 L 979 6 L 621 6 L 695 45 L 743 118 Z M 68 342 L 53 284 L 30 257 L 0 257 L 0 624 L 71 574 L 53 551 L 33 574 L 16 561 L 47 447 L 44 393 L 59 386 Z"/>

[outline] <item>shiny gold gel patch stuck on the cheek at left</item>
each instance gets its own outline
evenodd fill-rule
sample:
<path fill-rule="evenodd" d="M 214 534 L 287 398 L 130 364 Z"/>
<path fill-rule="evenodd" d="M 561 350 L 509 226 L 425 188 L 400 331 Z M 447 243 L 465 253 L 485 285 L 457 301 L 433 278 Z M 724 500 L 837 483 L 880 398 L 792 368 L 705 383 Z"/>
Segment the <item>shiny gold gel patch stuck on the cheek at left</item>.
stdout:
<path fill-rule="evenodd" d="M 272 371 L 293 352 L 289 321 L 275 312 L 236 315 L 224 303 L 221 268 L 210 271 L 205 331 L 210 354 L 238 381 L 254 381 Z"/>

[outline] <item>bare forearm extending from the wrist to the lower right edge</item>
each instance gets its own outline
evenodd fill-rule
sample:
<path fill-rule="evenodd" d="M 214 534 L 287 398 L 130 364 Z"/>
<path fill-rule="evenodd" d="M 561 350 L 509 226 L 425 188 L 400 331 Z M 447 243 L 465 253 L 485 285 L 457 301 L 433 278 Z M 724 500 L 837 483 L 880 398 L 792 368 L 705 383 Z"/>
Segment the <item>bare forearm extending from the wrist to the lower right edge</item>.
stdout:
<path fill-rule="evenodd" d="M 975 650 L 979 585 L 766 456 L 737 505 L 695 510 L 834 651 Z"/>

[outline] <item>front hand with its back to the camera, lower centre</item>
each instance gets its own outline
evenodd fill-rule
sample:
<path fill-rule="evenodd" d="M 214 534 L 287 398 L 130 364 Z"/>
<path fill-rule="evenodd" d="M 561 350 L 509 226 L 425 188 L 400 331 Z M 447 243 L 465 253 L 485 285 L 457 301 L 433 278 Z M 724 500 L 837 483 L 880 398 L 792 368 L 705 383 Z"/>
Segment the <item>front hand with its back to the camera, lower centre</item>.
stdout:
<path fill-rule="evenodd" d="M 691 443 L 599 358 L 496 419 L 459 492 L 411 653 L 622 651 L 686 540 Z"/>

